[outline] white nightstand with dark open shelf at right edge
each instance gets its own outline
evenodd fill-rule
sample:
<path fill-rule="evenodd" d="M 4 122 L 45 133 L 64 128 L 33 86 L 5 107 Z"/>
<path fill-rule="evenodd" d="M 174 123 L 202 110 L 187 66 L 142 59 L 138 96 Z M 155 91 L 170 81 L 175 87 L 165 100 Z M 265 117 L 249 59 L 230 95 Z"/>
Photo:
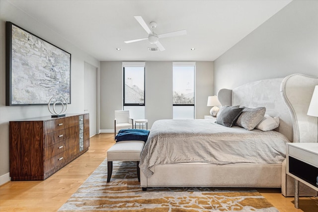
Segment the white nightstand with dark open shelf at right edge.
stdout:
<path fill-rule="evenodd" d="M 318 143 L 286 143 L 286 171 L 295 179 L 295 208 L 299 208 L 299 182 L 318 191 Z"/>

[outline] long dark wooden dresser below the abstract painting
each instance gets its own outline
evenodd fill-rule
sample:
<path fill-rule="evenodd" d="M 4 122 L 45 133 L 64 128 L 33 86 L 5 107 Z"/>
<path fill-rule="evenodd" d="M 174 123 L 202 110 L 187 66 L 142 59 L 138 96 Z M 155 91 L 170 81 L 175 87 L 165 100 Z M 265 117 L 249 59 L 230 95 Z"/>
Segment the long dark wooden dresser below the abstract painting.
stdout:
<path fill-rule="evenodd" d="M 89 147 L 89 114 L 9 122 L 11 181 L 45 180 Z"/>

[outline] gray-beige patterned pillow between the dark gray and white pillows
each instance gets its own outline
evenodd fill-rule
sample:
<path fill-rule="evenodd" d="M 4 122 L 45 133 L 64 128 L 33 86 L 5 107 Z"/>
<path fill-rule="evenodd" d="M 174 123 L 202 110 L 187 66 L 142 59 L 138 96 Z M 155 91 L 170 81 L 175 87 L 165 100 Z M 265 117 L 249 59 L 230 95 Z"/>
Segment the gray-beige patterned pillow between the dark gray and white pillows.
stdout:
<path fill-rule="evenodd" d="M 245 107 L 239 115 L 236 125 L 246 130 L 253 130 L 256 125 L 264 118 L 266 108 L 247 108 Z"/>

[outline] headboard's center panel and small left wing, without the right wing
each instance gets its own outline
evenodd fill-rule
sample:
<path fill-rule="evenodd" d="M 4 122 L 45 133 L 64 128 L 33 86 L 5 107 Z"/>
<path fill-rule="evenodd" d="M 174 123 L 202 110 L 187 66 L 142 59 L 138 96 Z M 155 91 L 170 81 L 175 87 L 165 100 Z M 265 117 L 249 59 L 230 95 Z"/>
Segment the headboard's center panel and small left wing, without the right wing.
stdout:
<path fill-rule="evenodd" d="M 280 93 L 282 81 L 283 78 L 263 79 L 243 84 L 233 90 L 221 89 L 218 98 L 222 105 L 266 107 L 266 114 L 280 119 L 279 127 L 275 130 L 293 141 L 292 119 Z"/>

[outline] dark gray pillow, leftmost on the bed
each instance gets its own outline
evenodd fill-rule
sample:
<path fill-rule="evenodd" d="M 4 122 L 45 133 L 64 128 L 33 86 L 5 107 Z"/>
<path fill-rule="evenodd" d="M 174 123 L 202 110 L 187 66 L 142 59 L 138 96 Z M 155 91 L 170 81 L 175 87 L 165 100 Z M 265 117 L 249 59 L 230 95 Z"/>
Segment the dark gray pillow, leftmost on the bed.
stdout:
<path fill-rule="evenodd" d="M 232 127 L 233 124 L 237 121 L 239 118 L 239 115 L 241 114 L 244 107 L 229 107 L 225 106 L 221 113 L 219 114 L 217 120 L 215 123 L 224 125 L 226 127 Z"/>

